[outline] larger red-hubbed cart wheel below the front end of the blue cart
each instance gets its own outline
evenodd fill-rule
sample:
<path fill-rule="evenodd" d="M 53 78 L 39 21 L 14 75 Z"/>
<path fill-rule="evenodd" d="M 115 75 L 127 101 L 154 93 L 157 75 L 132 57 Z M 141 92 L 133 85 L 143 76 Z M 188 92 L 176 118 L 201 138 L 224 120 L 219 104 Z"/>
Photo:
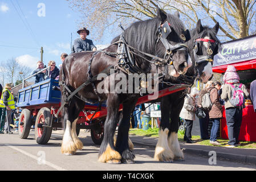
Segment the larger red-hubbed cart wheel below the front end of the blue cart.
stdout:
<path fill-rule="evenodd" d="M 51 138 L 51 110 L 43 107 L 39 110 L 35 120 L 35 139 L 38 144 L 46 144 Z M 44 126 L 43 126 L 44 125 Z"/>

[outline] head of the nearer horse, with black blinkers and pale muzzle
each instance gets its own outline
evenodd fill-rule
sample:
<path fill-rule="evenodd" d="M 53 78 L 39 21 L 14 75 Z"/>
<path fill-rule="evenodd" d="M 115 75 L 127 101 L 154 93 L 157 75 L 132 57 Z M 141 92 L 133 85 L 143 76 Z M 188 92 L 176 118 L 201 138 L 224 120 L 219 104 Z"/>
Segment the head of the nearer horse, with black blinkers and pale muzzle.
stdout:
<path fill-rule="evenodd" d="M 156 32 L 156 51 L 157 55 L 164 57 L 168 64 L 168 74 L 165 76 L 168 78 L 185 74 L 192 65 L 188 47 L 185 45 L 185 42 L 190 39 L 189 31 L 184 31 L 185 28 L 178 13 L 170 15 L 157 9 L 156 18 L 160 20 Z"/>

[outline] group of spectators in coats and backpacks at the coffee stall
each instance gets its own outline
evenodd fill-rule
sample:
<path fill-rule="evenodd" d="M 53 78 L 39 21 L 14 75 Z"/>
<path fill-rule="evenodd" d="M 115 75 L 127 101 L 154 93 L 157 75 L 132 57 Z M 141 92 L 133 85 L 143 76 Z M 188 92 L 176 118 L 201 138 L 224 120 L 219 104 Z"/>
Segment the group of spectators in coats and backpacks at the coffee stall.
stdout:
<path fill-rule="evenodd" d="M 226 124 L 229 142 L 225 147 L 240 146 L 239 133 L 242 123 L 242 110 L 245 108 L 245 98 L 251 98 L 255 109 L 256 80 L 250 84 L 250 94 L 244 84 L 239 82 L 239 76 L 235 67 L 228 65 L 223 77 L 224 84 L 216 81 L 208 81 L 205 88 L 200 92 L 197 88 L 192 88 L 184 100 L 180 118 L 186 122 L 184 141 L 193 143 L 191 131 L 195 114 L 201 110 L 204 116 L 198 116 L 200 122 L 200 134 L 202 140 L 208 140 L 210 144 L 220 145 L 217 141 L 217 132 L 220 128 L 222 118 L 222 105 L 225 107 Z M 196 102 L 196 97 L 198 101 Z M 209 122 L 212 122 L 210 135 L 208 133 Z"/>

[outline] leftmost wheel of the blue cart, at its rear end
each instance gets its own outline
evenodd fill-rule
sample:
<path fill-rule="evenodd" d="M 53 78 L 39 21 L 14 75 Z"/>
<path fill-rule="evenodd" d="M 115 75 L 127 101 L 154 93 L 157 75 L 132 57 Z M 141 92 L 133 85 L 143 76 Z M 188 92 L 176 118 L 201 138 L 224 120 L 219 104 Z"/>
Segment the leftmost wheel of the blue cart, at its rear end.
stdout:
<path fill-rule="evenodd" d="M 19 138 L 26 139 L 29 137 L 29 132 L 31 128 L 31 112 L 29 109 L 23 109 L 21 116 L 19 117 Z"/>

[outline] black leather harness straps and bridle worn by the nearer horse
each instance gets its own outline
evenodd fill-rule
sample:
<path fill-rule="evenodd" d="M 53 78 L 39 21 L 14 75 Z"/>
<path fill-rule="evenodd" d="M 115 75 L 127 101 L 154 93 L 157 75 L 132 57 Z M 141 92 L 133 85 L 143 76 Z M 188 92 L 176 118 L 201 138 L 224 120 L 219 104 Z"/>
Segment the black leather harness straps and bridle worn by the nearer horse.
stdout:
<path fill-rule="evenodd" d="M 100 99 L 99 93 L 97 93 L 96 86 L 95 86 L 95 81 L 97 80 L 97 76 L 98 75 L 93 76 L 92 72 L 91 72 L 92 60 L 94 59 L 95 55 L 97 53 L 99 53 L 99 52 L 105 53 L 106 55 L 110 55 L 110 56 L 116 56 L 117 65 L 115 65 L 115 66 L 113 65 L 113 66 L 111 66 L 109 68 L 106 68 L 106 69 L 104 69 L 103 72 L 101 72 L 101 73 L 107 74 L 108 76 L 110 75 L 110 69 L 115 69 L 115 71 L 121 70 L 124 73 L 127 73 L 127 75 L 130 74 L 130 73 L 143 73 L 144 71 L 141 68 L 138 67 L 138 65 L 136 64 L 136 61 L 134 60 L 134 55 L 140 56 L 141 58 L 145 59 L 145 57 L 143 57 L 143 56 L 141 56 L 141 55 L 136 53 L 136 52 L 139 52 L 139 53 L 142 53 L 143 55 L 151 57 L 153 59 L 153 60 L 145 59 L 149 63 L 153 63 L 153 64 L 157 64 L 157 65 L 159 65 L 159 64 L 164 64 L 165 65 L 165 71 L 161 72 L 159 74 L 159 77 L 163 78 L 164 75 L 165 75 L 165 72 L 168 70 L 168 65 L 172 65 L 173 64 L 173 59 L 172 59 L 173 51 L 188 51 L 188 46 L 186 46 L 183 43 L 178 43 L 178 44 L 175 44 L 173 46 L 172 44 L 170 44 L 168 42 L 167 37 L 170 34 L 170 32 L 172 31 L 172 30 L 170 30 L 169 25 L 170 24 L 168 22 L 165 22 L 164 24 L 160 24 L 160 26 L 159 26 L 159 28 L 158 28 L 158 30 L 156 32 L 156 33 L 159 34 L 158 38 L 156 40 L 156 44 L 159 42 L 159 40 L 161 40 L 162 44 L 164 45 L 164 47 L 166 49 L 164 58 L 160 58 L 158 56 L 151 55 L 149 53 L 145 53 L 145 52 L 139 51 L 138 49 L 129 46 L 127 44 L 127 42 L 125 41 L 125 39 L 124 39 L 124 29 L 123 29 L 123 27 L 120 26 L 123 29 L 123 34 L 121 34 L 120 39 L 119 39 L 118 42 L 115 42 L 115 43 L 111 44 L 111 45 L 113 45 L 113 44 L 117 44 L 118 43 L 117 52 L 106 52 L 106 51 L 102 51 L 102 50 L 94 52 L 92 54 L 92 57 L 91 57 L 91 59 L 89 61 L 89 64 L 88 64 L 88 72 L 87 72 L 87 74 L 88 74 L 89 79 L 86 82 L 84 82 L 82 85 L 80 85 L 78 88 L 76 88 L 74 90 L 74 92 L 71 92 L 71 90 L 68 88 L 68 86 L 66 85 L 66 83 L 64 81 L 64 73 L 62 74 L 62 81 L 59 82 L 59 85 L 63 86 L 63 90 L 62 90 L 63 94 L 65 95 L 65 93 L 67 91 L 69 96 L 68 97 L 64 97 L 64 104 L 62 104 L 60 106 L 60 108 L 59 108 L 58 112 L 56 113 L 56 115 L 59 114 L 60 110 L 62 110 L 64 105 L 68 105 L 69 104 L 71 98 L 74 97 L 74 96 L 79 98 L 80 100 L 82 100 L 84 102 L 88 102 L 90 104 L 95 104 L 94 102 L 88 101 L 86 98 L 83 98 L 81 96 L 79 97 L 76 94 L 81 89 L 83 89 L 85 86 L 90 85 L 90 84 L 92 84 L 92 88 L 94 89 L 94 92 L 95 92 L 95 94 L 96 94 L 96 96 L 98 98 L 98 101 L 101 103 L 101 99 Z M 183 39 L 183 38 L 185 38 L 185 36 L 182 34 L 181 38 Z M 187 37 L 187 38 L 190 39 L 190 37 Z M 134 51 L 136 51 L 136 52 L 134 52 Z M 177 84 L 173 84 L 173 85 L 177 85 Z"/>

